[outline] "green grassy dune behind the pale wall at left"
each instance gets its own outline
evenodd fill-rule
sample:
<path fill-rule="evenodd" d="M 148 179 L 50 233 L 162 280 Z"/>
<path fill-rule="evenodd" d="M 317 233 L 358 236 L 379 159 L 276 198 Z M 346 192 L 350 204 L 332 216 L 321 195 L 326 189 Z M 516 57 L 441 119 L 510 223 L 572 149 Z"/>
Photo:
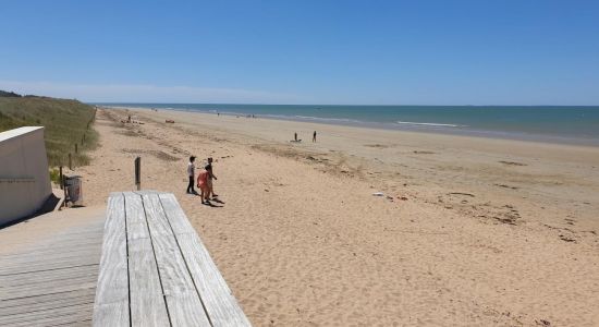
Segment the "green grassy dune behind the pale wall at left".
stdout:
<path fill-rule="evenodd" d="M 50 167 L 68 166 L 69 153 L 73 166 L 89 164 L 85 153 L 96 147 L 98 142 L 98 133 L 91 126 L 94 116 L 93 106 L 77 100 L 0 93 L 0 132 L 21 126 L 45 126 Z"/>

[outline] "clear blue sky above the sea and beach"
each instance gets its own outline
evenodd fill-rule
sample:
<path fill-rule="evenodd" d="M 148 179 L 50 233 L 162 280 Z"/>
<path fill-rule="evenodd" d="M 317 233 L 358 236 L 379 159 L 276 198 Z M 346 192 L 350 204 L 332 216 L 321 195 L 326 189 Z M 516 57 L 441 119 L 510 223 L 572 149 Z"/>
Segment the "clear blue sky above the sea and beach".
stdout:
<path fill-rule="evenodd" d="M 599 105 L 599 1 L 3 1 L 0 89 L 86 101 Z"/>

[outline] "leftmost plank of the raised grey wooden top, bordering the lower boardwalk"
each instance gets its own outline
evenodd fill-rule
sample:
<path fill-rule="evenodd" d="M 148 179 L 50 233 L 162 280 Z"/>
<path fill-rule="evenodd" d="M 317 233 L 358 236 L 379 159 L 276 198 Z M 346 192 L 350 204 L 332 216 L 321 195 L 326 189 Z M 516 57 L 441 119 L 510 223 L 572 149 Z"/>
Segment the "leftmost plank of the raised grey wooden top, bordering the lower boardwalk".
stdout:
<path fill-rule="evenodd" d="M 129 326 L 129 271 L 124 196 L 108 198 L 94 326 Z"/>

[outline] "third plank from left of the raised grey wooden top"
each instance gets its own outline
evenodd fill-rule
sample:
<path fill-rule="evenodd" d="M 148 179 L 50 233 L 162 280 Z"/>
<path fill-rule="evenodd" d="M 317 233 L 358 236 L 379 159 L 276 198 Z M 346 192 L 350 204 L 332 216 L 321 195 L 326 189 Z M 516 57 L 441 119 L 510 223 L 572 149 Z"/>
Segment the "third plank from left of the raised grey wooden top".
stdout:
<path fill-rule="evenodd" d="M 158 195 L 146 194 L 143 199 L 173 326 L 210 326 Z"/>

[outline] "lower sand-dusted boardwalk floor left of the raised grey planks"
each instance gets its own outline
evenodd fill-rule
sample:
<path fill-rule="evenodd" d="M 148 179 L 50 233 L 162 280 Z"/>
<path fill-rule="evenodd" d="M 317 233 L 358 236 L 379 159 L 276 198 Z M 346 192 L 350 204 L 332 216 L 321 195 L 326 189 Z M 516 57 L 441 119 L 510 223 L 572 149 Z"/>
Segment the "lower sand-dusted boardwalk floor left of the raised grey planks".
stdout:
<path fill-rule="evenodd" d="M 0 326 L 90 326 L 105 208 L 0 230 Z"/>

